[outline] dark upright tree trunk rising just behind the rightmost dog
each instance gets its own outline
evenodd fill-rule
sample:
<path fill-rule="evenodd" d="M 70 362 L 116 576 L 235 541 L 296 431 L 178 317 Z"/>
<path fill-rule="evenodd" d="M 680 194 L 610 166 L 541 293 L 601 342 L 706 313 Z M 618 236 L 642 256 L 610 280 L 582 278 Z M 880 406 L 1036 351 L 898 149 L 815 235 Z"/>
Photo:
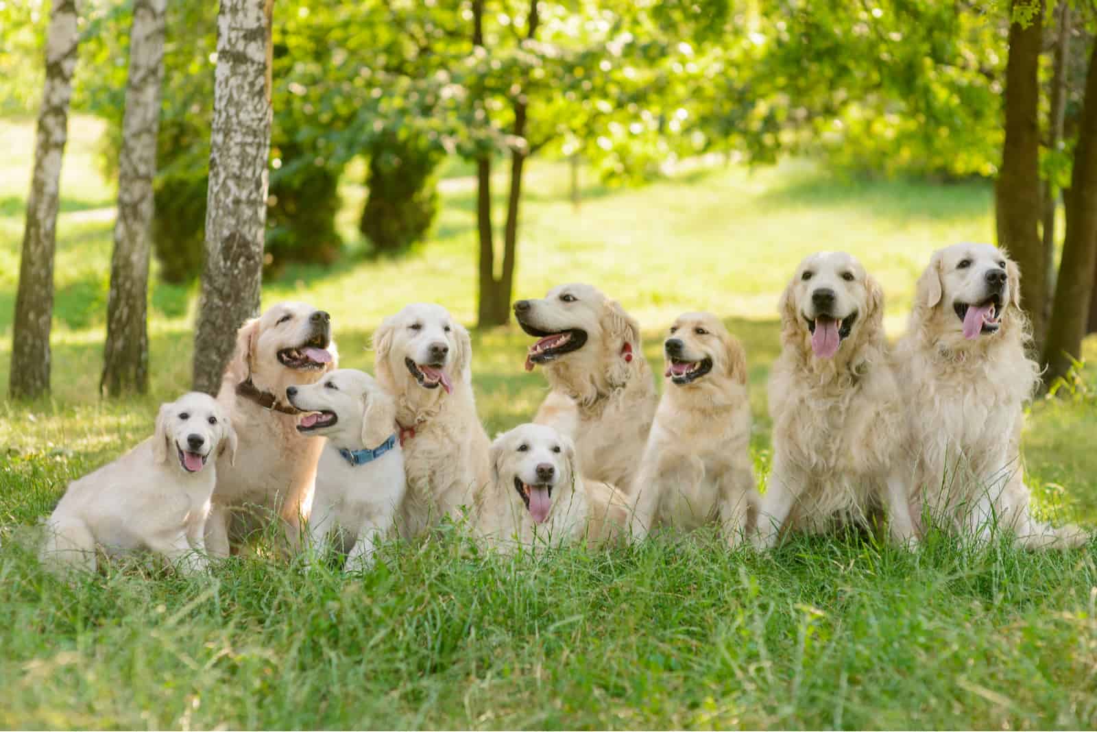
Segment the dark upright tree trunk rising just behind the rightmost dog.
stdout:
<path fill-rule="evenodd" d="M 1010 11 L 1020 0 L 1010 3 Z M 1042 3 L 1028 27 L 1009 24 L 1009 58 L 1006 61 L 1006 139 L 995 190 L 998 245 L 1007 250 L 1021 271 L 1021 307 L 1032 322 L 1037 347 L 1044 335 L 1043 242 L 1040 220 L 1040 125 L 1038 107 Z"/>

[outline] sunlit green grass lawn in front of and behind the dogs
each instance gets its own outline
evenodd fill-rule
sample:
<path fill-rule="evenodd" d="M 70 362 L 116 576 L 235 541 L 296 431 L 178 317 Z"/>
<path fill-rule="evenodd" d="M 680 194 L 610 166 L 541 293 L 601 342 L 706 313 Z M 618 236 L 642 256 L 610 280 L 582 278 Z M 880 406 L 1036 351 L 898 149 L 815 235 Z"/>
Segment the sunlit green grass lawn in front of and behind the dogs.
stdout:
<path fill-rule="evenodd" d="M 452 527 L 386 547 L 350 576 L 261 557 L 200 579 L 43 574 L 33 524 L 69 480 L 149 434 L 156 404 L 189 384 L 194 291 L 156 283 L 152 392 L 100 400 L 113 192 L 97 172 L 99 131 L 77 117 L 66 155 L 53 397 L 0 402 L 0 727 L 1097 727 L 1097 542 L 1037 554 L 930 537 L 912 554 L 842 536 L 758 556 L 699 536 L 500 558 Z M 0 138 L 5 389 L 33 126 L 0 121 Z M 991 190 L 977 184 L 849 181 L 790 161 L 591 185 L 574 210 L 566 181 L 532 167 L 516 295 L 590 282 L 640 319 L 657 363 L 677 313 L 720 313 L 747 347 L 761 473 L 776 304 L 795 262 L 855 253 L 883 282 L 897 335 L 929 253 L 993 239 Z M 433 238 L 408 258 L 291 267 L 264 304 L 325 307 L 342 365 L 366 369 L 370 333 L 406 302 L 438 301 L 471 323 L 473 193 L 468 179 L 445 180 Z M 344 186 L 348 239 L 362 196 Z M 517 329 L 474 335 L 491 434 L 529 420 L 544 394 L 541 375 L 522 370 L 527 344 Z M 1086 355 L 1097 363 L 1097 340 Z M 1089 525 L 1095 393 L 1087 367 L 1073 396 L 1032 407 L 1025 434 L 1040 508 Z"/>

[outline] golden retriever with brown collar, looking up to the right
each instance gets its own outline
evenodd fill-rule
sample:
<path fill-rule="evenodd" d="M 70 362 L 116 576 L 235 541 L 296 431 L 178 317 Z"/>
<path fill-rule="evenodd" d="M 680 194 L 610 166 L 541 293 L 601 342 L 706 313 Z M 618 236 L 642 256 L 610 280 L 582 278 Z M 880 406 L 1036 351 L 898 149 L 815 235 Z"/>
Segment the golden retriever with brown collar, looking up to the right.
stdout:
<path fill-rule="evenodd" d="M 227 556 L 275 516 L 291 546 L 308 517 L 324 441 L 297 432 L 299 412 L 285 402 L 291 386 L 312 384 L 336 367 L 331 318 L 303 302 L 280 302 L 237 331 L 217 402 L 240 447 L 236 465 L 222 459 L 206 524 L 211 554 Z"/>

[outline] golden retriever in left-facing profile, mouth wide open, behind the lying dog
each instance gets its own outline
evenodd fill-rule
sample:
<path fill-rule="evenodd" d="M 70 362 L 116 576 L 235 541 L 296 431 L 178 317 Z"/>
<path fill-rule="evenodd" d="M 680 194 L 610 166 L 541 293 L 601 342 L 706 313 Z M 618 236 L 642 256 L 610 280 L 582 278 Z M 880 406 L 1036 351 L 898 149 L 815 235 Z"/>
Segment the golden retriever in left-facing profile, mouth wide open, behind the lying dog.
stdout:
<path fill-rule="evenodd" d="M 627 491 L 658 401 L 640 325 L 620 304 L 578 284 L 518 300 L 514 317 L 538 339 L 525 369 L 541 366 L 553 389 L 534 422 L 575 441 L 588 477 Z"/>

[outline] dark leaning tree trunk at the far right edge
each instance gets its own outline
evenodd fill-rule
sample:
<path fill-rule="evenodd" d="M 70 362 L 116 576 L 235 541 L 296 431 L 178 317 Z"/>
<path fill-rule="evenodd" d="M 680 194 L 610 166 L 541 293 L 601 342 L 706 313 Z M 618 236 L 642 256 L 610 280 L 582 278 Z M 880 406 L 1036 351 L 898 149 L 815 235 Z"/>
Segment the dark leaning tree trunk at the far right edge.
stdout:
<path fill-rule="evenodd" d="M 1052 308 L 1044 361 L 1045 384 L 1071 368 L 1082 354 L 1097 268 L 1097 44 L 1086 77 L 1086 95 L 1078 142 L 1074 149 L 1071 193 L 1066 197 L 1066 237 L 1059 266 L 1059 287 Z"/>

